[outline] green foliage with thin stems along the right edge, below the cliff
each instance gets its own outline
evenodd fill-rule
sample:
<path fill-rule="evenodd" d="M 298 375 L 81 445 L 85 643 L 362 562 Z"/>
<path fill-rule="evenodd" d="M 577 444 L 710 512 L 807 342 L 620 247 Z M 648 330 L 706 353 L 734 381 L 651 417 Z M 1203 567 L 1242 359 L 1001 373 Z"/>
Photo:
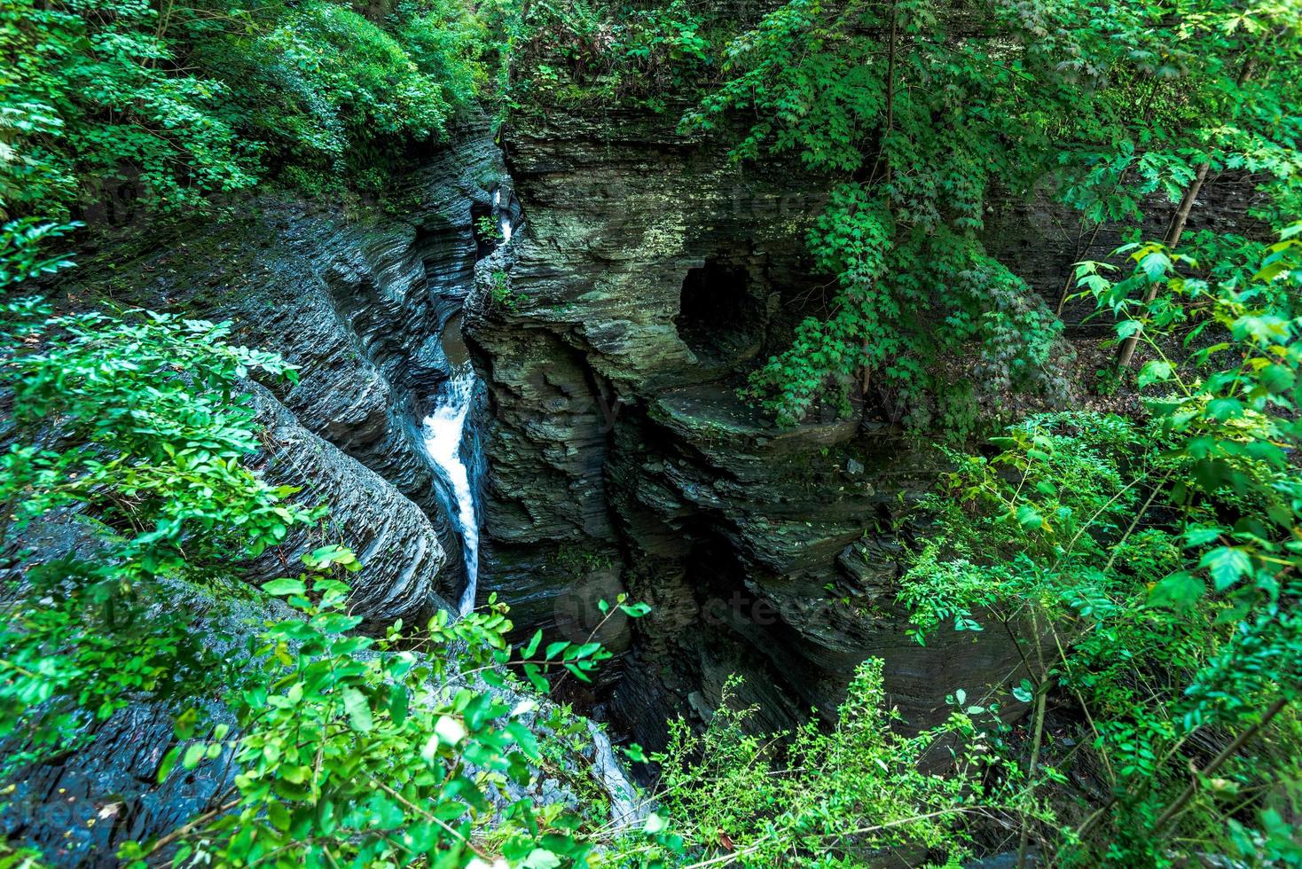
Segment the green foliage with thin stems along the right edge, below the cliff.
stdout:
<path fill-rule="evenodd" d="M 1081 265 L 1118 341 L 1155 356 L 1138 376 L 1146 418 L 1032 416 L 992 458 L 952 454 L 927 505 L 939 532 L 902 600 L 923 635 L 1018 636 L 1032 786 L 1059 777 L 1038 770 L 1051 696 L 1085 715 L 1111 797 L 1075 829 L 1036 834 L 1056 852 L 1161 865 L 1173 842 L 1197 842 L 1247 864 L 1299 856 L 1282 822 L 1302 751 L 1299 235 L 1208 263 L 1211 280 L 1156 243 L 1130 248 L 1116 282 Z M 1152 284 L 1152 302 L 1130 297 Z"/>

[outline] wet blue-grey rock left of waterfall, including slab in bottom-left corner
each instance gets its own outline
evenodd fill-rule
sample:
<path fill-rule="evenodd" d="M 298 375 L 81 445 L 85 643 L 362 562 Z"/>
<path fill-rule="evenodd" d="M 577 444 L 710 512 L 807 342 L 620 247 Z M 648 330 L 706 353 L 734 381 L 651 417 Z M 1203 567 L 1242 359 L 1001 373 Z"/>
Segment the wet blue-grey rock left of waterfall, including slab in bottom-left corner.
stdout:
<path fill-rule="evenodd" d="M 107 298 L 229 319 L 236 341 L 299 367 L 294 385 L 250 385 L 264 427 L 253 464 L 270 481 L 301 488 L 298 501 L 328 505 L 331 523 L 232 565 L 243 583 L 297 574 L 303 552 L 344 542 L 365 565 L 353 605 L 367 626 L 447 608 L 443 596 L 462 583 L 461 561 L 419 420 L 448 376 L 440 332 L 460 311 L 479 255 L 471 212 L 491 207 L 503 180 L 487 129 L 473 126 L 383 202 L 344 208 L 264 198 L 165 233 L 126 228 L 59 286 L 61 307 Z M 92 539 L 73 519 L 34 526 L 26 542 L 43 559 L 94 557 Z M 176 589 L 177 606 L 195 614 L 193 630 L 215 643 L 232 637 L 232 654 L 283 613 L 241 588 Z M 215 721 L 228 717 L 206 702 Z M 156 782 L 180 712 L 135 702 L 91 725 L 69 755 L 18 770 L 0 830 L 56 865 L 117 865 L 122 842 L 214 808 L 230 786 L 221 758 Z"/>

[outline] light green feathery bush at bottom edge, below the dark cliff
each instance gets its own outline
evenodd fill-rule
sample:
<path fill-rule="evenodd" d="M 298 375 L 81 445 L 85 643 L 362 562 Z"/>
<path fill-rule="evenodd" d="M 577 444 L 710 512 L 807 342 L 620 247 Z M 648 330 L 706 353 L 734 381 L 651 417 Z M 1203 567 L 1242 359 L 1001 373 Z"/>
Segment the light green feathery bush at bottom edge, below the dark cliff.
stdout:
<path fill-rule="evenodd" d="M 917 736 L 897 735 L 887 710 L 881 661 L 870 658 L 850 680 L 831 732 L 809 722 L 788 744 L 756 736 L 738 709 L 736 679 L 703 735 L 673 722 L 664 803 L 702 844 L 729 843 L 732 859 L 753 866 L 871 865 L 891 851 L 970 855 L 965 827 L 1025 804 L 1019 773 L 992 751 L 995 738 L 960 704 L 949 719 Z M 695 758 L 700 758 L 697 761 Z M 922 771 L 948 766 L 945 775 Z"/>

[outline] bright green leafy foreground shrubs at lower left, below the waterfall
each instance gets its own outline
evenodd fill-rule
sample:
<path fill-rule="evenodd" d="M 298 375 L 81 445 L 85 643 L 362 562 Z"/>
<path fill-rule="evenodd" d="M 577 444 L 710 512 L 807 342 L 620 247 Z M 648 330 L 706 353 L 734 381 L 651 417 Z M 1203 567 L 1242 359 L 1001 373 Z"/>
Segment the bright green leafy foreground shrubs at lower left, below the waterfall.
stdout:
<path fill-rule="evenodd" d="M 305 558 L 303 578 L 266 584 L 297 613 L 268 622 L 243 652 L 221 649 L 223 628 L 199 621 L 193 602 L 229 582 L 232 559 L 322 515 L 243 464 L 258 440 L 240 380 L 292 368 L 225 343 L 229 324 L 143 312 L 47 317 L 33 299 L 8 314 L 4 384 L 30 442 L 12 445 L 0 464 L 5 531 L 70 524 L 90 557 L 31 562 L 10 593 L 0 719 L 25 748 L 5 757 L 7 774 L 76 748 L 92 722 L 124 706 L 164 701 L 181 742 L 159 781 L 177 762 L 223 758 L 233 761 L 228 792 L 173 834 L 128 846 L 126 859 L 178 844 L 178 859 L 202 853 L 217 865 L 272 855 L 276 865 L 397 865 L 434 852 L 465 865 L 480 812 L 500 814 L 493 847 L 516 859 L 544 842 L 548 852 L 582 852 L 570 838 L 578 817 L 566 821 L 564 807 L 488 801 L 508 782 L 527 784 L 530 762 L 544 760 L 523 717 L 549 732 L 564 725 L 555 708 L 543 715 L 534 701 L 512 701 L 497 671 L 510 656 L 505 608 L 454 624 L 444 613 L 413 636 L 401 624 L 379 643 L 357 636 L 361 618 L 333 572 L 361 565 L 327 545 Z M 366 654 L 372 647 L 383 654 Z M 603 656 L 596 644 L 562 641 L 527 666 L 546 687 L 542 666 L 555 661 L 586 679 Z M 210 699 L 236 713 L 234 731 L 201 718 L 194 704 Z M 556 864 L 535 856 L 534 865 Z"/>

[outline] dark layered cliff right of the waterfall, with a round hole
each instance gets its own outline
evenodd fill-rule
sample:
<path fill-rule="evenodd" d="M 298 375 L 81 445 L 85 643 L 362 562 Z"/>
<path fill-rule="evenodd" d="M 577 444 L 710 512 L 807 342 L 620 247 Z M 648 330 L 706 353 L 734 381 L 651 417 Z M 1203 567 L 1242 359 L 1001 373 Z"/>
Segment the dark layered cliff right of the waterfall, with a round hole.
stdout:
<path fill-rule="evenodd" d="M 930 450 L 858 408 L 779 429 L 737 398 L 827 291 L 805 255 L 818 182 L 740 170 L 672 112 L 553 109 L 505 140 L 527 229 L 466 324 L 495 408 L 480 582 L 574 637 L 599 598 L 652 605 L 624 637 L 607 623 L 629 652 L 598 710 L 655 745 L 737 674 L 756 723 L 785 727 L 880 656 L 924 726 L 1014 673 L 997 637 L 905 635 L 893 526 Z"/>

